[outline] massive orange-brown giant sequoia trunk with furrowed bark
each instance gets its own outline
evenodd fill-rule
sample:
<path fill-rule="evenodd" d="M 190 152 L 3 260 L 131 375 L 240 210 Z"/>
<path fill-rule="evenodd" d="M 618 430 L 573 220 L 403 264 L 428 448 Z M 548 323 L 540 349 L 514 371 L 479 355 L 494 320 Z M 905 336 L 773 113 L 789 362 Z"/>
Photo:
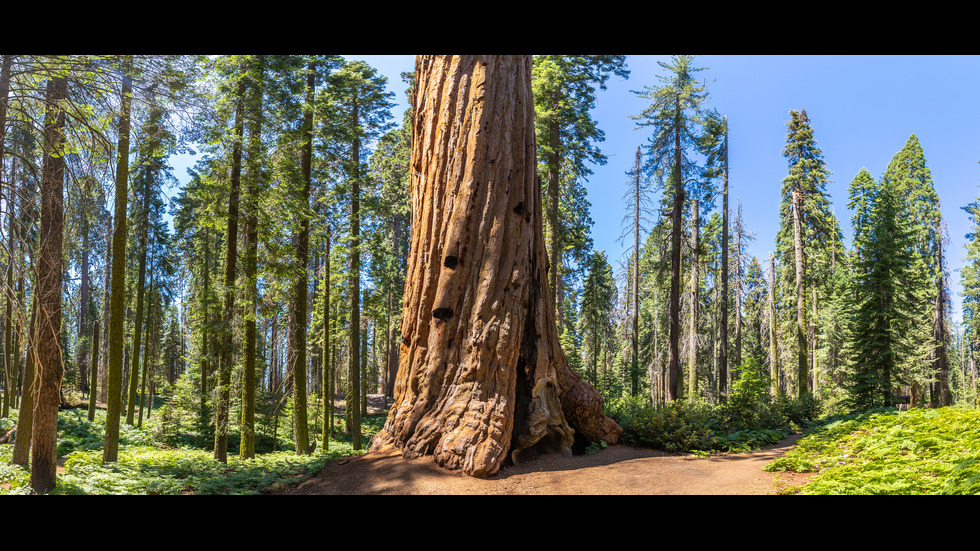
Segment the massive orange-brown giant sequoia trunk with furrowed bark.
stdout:
<path fill-rule="evenodd" d="M 616 443 L 558 344 L 530 56 L 419 56 L 416 79 L 399 369 L 372 450 L 489 476 L 577 437 Z"/>

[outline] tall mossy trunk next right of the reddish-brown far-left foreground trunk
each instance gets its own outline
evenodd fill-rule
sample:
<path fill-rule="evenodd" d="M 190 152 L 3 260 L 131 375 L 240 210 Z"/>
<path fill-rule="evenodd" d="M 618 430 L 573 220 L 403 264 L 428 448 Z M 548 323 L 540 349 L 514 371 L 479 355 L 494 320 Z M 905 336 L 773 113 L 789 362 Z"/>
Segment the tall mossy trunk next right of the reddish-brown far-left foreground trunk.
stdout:
<path fill-rule="evenodd" d="M 126 198 L 129 182 L 129 126 L 133 81 L 130 73 L 133 56 L 126 56 L 122 66 L 122 99 L 119 116 L 119 147 L 116 160 L 116 199 L 112 235 L 112 279 L 109 297 L 109 327 L 106 340 L 107 359 L 106 435 L 103 463 L 114 463 L 119 453 L 119 413 L 122 391 L 122 364 L 126 303 Z"/>

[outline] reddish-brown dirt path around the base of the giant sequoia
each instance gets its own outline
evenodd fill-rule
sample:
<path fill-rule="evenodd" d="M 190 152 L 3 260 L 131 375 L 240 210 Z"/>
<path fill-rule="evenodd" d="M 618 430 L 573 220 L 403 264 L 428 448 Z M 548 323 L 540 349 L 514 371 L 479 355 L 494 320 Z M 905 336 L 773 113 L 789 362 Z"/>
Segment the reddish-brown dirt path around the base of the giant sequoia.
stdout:
<path fill-rule="evenodd" d="M 786 453 L 799 434 L 758 452 L 696 458 L 627 445 L 592 455 L 542 455 L 477 479 L 440 468 L 431 458 L 369 453 L 334 461 L 285 495 L 310 494 L 607 494 L 771 495 L 793 480 L 762 467 Z"/>

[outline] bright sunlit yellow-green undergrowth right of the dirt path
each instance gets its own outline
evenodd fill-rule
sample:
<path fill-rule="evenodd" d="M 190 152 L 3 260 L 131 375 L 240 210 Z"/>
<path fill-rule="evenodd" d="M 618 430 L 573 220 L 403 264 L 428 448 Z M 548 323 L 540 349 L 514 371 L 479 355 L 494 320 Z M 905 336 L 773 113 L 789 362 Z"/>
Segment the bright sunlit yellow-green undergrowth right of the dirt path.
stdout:
<path fill-rule="evenodd" d="M 882 408 L 829 417 L 767 471 L 816 473 L 794 493 L 980 494 L 980 410 Z"/>

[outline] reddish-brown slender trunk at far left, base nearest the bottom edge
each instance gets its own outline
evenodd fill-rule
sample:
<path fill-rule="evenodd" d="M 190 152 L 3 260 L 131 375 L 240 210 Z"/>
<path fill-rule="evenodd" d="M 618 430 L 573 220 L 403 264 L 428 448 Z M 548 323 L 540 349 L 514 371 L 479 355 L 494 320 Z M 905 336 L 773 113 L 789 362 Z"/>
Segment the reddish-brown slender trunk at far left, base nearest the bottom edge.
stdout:
<path fill-rule="evenodd" d="M 58 448 L 58 405 L 61 403 L 61 285 L 64 259 L 65 112 L 68 79 L 48 81 L 44 161 L 41 167 L 41 219 L 38 228 L 37 401 L 31 441 L 31 488 L 50 492 L 55 485 Z"/>

